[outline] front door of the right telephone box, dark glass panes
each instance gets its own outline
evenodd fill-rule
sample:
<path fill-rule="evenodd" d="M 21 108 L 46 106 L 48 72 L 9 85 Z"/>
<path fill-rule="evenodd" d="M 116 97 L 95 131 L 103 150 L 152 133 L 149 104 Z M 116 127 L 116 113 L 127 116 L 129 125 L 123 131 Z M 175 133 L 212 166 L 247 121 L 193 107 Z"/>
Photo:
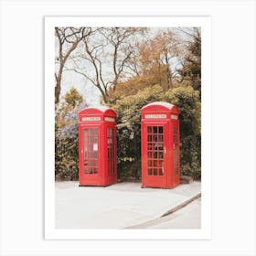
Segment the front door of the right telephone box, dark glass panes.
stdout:
<path fill-rule="evenodd" d="M 168 168 L 167 126 L 167 123 L 145 125 L 144 186 L 165 187 Z"/>

